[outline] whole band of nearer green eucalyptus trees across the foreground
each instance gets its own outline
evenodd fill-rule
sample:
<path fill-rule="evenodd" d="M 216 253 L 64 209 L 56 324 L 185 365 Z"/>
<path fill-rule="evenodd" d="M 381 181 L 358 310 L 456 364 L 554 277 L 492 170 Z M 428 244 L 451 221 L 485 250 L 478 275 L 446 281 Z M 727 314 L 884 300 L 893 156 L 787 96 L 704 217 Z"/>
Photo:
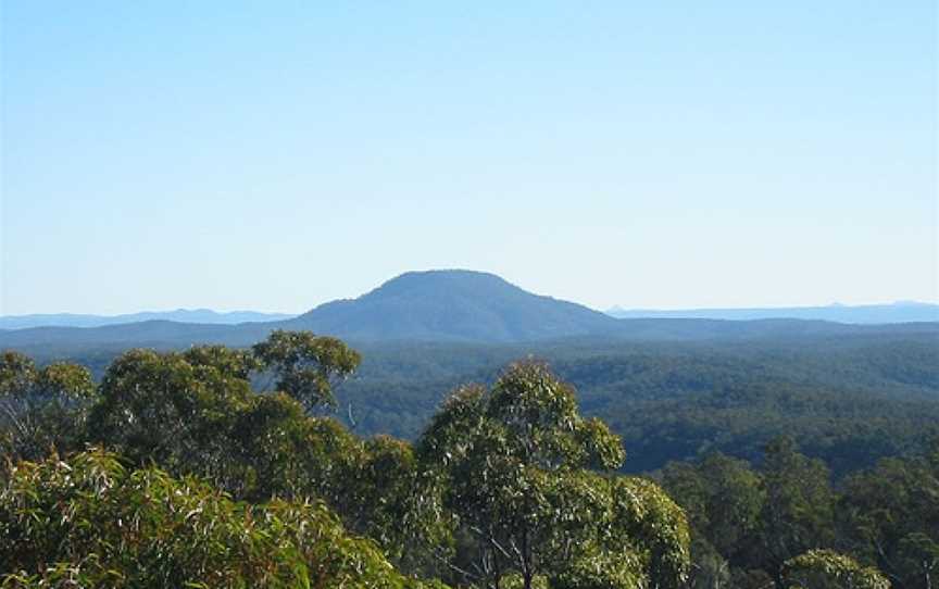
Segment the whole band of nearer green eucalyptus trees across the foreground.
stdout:
<path fill-rule="evenodd" d="M 3 353 L 4 585 L 931 589 L 939 571 L 939 443 L 837 487 L 786 437 L 756 466 L 624 476 L 619 437 L 541 363 L 455 388 L 413 442 L 328 416 L 359 364 L 287 331 L 130 350 L 100 384 Z"/>

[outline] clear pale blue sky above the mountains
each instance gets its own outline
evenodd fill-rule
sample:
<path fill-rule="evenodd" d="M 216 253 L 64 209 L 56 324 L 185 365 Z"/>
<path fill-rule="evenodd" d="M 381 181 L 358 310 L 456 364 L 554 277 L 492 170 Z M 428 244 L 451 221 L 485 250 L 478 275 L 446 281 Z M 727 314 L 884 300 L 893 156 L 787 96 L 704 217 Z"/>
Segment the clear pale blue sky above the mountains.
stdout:
<path fill-rule="evenodd" d="M 0 314 L 939 300 L 937 5 L 0 0 Z"/>

